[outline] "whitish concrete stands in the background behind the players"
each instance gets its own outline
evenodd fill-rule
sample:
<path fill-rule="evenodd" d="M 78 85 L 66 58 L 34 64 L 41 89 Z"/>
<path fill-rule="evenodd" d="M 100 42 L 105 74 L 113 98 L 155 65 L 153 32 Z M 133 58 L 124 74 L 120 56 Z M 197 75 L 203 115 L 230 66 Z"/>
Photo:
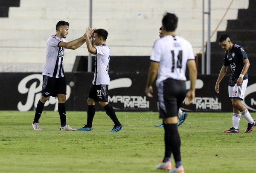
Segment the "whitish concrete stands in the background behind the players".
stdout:
<path fill-rule="evenodd" d="M 212 32 L 230 2 L 212 2 Z M 227 20 L 236 19 L 238 9 L 247 7 L 248 0 L 235 0 L 218 30 L 225 30 Z M 109 32 L 112 55 L 148 56 L 166 11 L 179 17 L 177 35 L 192 43 L 195 55 L 200 52 L 202 0 L 93 0 L 93 28 Z M 89 0 L 20 0 L 20 7 L 10 7 L 9 17 L 0 18 L 0 72 L 41 72 L 46 40 L 55 34 L 59 20 L 70 23 L 67 40 L 80 37 L 89 26 Z M 88 55 L 85 45 L 65 51 L 66 72 L 79 55 Z"/>

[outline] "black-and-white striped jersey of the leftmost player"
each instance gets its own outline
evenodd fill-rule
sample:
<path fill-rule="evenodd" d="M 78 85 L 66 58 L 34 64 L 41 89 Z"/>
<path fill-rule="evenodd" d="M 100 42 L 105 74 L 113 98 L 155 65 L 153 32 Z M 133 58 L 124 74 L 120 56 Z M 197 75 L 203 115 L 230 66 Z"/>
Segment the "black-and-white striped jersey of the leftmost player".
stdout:
<path fill-rule="evenodd" d="M 62 78 L 64 73 L 64 47 L 59 47 L 61 41 L 67 42 L 64 38 L 58 38 L 52 35 L 48 38 L 46 43 L 46 61 L 44 64 L 43 75 L 52 78 Z"/>

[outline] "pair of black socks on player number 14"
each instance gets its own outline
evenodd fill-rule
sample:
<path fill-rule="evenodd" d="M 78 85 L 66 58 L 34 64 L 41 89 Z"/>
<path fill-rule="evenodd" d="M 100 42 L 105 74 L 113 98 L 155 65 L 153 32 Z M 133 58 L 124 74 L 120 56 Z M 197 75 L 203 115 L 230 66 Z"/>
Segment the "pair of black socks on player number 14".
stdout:
<path fill-rule="evenodd" d="M 165 156 L 164 158 L 171 157 L 173 153 L 173 157 L 175 159 L 175 163 L 181 161 L 180 156 L 180 136 L 178 133 L 177 124 L 164 124 L 164 140 L 165 140 Z"/>

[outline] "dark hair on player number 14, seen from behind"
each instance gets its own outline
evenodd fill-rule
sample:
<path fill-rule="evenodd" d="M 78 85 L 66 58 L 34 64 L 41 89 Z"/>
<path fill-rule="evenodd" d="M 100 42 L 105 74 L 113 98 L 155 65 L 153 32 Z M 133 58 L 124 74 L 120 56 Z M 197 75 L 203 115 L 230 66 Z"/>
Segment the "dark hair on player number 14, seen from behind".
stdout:
<path fill-rule="evenodd" d="M 173 13 L 168 13 L 163 16 L 163 27 L 167 32 L 175 31 L 178 25 L 178 17 Z"/>

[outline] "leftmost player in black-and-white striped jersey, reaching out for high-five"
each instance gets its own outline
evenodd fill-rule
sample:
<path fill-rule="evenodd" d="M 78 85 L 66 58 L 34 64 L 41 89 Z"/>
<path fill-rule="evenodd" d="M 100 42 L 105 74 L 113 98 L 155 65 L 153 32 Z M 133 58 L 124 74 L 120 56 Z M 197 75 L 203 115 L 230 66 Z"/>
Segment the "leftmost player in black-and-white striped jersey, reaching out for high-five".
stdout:
<path fill-rule="evenodd" d="M 39 118 L 44 109 L 45 102 L 49 96 L 58 98 L 58 112 L 61 119 L 60 130 L 75 130 L 66 124 L 66 78 L 64 73 L 64 50 L 77 49 L 85 43 L 85 34 L 76 40 L 68 42 L 69 23 L 63 20 L 56 24 L 56 34 L 48 38 L 46 43 L 46 61 L 43 69 L 42 95 L 38 101 L 35 118 L 32 123 L 34 130 L 41 130 Z"/>

